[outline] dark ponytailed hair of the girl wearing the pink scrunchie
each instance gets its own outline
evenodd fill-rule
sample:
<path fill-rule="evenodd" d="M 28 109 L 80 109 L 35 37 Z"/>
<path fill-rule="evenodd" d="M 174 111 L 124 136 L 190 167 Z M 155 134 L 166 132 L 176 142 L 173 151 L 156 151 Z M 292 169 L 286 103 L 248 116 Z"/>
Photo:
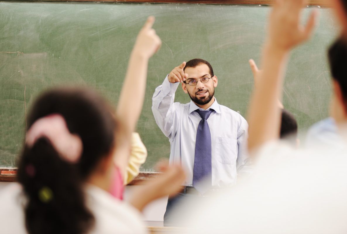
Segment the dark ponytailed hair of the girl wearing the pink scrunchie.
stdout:
<path fill-rule="evenodd" d="M 26 228 L 28 233 L 86 233 L 94 217 L 85 206 L 83 185 L 111 157 L 116 120 L 107 103 L 88 89 L 42 94 L 28 115 L 28 129 L 51 114 L 61 115 L 68 131 L 81 139 L 82 154 L 77 162 L 68 162 L 44 136 L 31 147 L 24 145 L 17 176 L 28 198 Z"/>

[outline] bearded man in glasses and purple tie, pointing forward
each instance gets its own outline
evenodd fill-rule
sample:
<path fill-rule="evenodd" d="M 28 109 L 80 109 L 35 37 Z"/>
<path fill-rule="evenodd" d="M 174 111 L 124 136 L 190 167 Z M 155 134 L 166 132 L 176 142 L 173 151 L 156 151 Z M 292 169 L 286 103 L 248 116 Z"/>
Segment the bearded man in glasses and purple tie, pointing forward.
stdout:
<path fill-rule="evenodd" d="M 179 85 L 191 102 L 174 103 Z M 181 164 L 187 172 L 183 191 L 168 200 L 166 225 L 168 213 L 178 200 L 211 196 L 229 188 L 247 161 L 247 122 L 239 113 L 218 104 L 214 97 L 217 85 L 211 64 L 192 59 L 174 68 L 155 89 L 152 111 L 169 138 L 170 163 Z"/>

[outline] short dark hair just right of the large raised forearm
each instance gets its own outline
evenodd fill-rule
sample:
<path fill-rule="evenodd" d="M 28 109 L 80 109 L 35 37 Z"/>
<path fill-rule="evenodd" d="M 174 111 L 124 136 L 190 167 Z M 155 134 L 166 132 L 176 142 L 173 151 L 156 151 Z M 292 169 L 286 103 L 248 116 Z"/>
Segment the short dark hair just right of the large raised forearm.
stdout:
<path fill-rule="evenodd" d="M 280 138 L 286 139 L 293 146 L 296 145 L 298 124 L 293 114 L 282 109 Z"/>

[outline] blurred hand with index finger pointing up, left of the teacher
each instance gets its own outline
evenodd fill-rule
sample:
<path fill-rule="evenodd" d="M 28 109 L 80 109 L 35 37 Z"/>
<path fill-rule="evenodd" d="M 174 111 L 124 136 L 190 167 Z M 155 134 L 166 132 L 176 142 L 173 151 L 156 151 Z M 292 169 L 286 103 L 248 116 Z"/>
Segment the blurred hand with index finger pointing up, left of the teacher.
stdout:
<path fill-rule="evenodd" d="M 144 58 L 152 57 L 161 46 L 161 40 L 152 28 L 154 21 L 155 18 L 153 16 L 148 17 L 136 38 L 133 52 L 143 56 Z"/>

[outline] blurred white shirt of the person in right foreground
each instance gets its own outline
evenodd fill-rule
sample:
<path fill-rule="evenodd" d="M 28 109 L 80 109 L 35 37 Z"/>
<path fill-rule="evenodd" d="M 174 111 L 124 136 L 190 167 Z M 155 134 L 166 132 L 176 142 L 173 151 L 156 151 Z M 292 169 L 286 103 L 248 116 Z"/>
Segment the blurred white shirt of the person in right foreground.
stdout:
<path fill-rule="evenodd" d="M 332 154 L 271 142 L 257 153 L 248 181 L 187 208 L 187 233 L 346 233 L 347 150 Z"/>

